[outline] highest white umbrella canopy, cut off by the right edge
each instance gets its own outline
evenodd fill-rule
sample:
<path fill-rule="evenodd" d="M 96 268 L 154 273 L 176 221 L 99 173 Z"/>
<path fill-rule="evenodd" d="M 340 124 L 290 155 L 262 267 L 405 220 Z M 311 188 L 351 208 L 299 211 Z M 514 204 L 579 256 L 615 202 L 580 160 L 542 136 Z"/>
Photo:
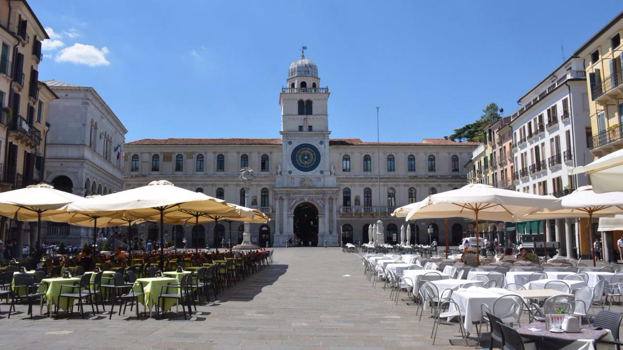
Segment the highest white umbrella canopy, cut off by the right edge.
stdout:
<path fill-rule="evenodd" d="M 570 175 L 586 173 L 591 179 L 595 193 L 623 191 L 623 149 L 592 161 L 585 166 L 576 166 Z"/>

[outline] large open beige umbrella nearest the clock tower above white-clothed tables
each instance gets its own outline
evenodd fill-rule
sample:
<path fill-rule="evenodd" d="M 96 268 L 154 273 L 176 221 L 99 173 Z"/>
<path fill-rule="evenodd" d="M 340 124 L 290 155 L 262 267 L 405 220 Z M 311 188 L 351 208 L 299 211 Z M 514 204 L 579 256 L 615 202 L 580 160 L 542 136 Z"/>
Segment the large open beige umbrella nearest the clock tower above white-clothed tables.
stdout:
<path fill-rule="evenodd" d="M 539 196 L 498 189 L 484 184 L 468 184 L 460 189 L 432 194 L 412 209 L 408 220 L 422 217 L 466 217 L 475 222 L 476 258 L 480 263 L 478 219 L 515 221 L 542 208 L 559 209 L 553 196 Z"/>

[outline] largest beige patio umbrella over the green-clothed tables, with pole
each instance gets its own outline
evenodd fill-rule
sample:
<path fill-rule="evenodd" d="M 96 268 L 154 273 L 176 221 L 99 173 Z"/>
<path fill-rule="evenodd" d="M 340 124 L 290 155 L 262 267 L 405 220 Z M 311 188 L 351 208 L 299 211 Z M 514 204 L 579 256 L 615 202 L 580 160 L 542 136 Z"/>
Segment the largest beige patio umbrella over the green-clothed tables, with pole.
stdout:
<path fill-rule="evenodd" d="M 188 207 L 186 207 L 187 205 Z M 161 269 L 163 269 L 164 264 L 164 217 L 181 209 L 223 215 L 235 211 L 221 199 L 176 187 L 166 180 L 151 181 L 147 186 L 115 192 L 102 197 L 83 199 L 67 207 L 69 212 L 80 212 L 100 217 L 133 217 L 137 219 L 158 217 L 160 222 Z"/>

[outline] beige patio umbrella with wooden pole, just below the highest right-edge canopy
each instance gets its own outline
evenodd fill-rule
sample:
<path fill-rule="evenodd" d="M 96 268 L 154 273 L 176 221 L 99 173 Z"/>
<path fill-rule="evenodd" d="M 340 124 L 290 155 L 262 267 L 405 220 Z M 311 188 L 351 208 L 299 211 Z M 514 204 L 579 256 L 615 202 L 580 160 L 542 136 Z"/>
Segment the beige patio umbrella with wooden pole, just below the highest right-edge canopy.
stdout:
<path fill-rule="evenodd" d="M 521 221 L 563 219 L 567 217 L 586 217 L 589 222 L 589 244 L 592 252 L 592 265 L 595 266 L 595 251 L 593 244 L 592 218 L 613 217 L 623 214 L 623 192 L 595 193 L 592 186 L 582 186 L 560 199 L 561 208 L 558 210 L 540 210 L 533 214 L 521 217 Z"/>

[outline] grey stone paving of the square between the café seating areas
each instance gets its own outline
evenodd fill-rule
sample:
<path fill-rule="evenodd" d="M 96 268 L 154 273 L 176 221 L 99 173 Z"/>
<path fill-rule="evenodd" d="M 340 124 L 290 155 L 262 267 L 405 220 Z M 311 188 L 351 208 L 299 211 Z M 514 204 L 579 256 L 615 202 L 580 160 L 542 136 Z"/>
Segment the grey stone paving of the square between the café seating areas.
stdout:
<path fill-rule="evenodd" d="M 432 318 L 389 300 L 359 270 L 357 255 L 340 248 L 276 248 L 275 262 L 227 288 L 216 303 L 197 306 L 196 319 L 141 319 L 107 313 L 83 320 L 11 319 L 0 308 L 1 349 L 397 349 L 432 347 Z M 403 294 L 404 295 L 404 294 Z M 90 310 L 90 308 L 87 308 Z M 109 306 L 107 306 L 109 310 Z M 173 311 L 175 308 L 172 309 Z M 180 309 L 181 310 L 181 309 Z M 39 309 L 36 309 L 36 314 Z M 180 314 L 181 315 L 181 314 Z M 133 316 L 133 317 L 129 317 Z M 168 314 L 174 317 L 173 313 Z M 442 325 L 435 348 L 460 339 Z"/>

